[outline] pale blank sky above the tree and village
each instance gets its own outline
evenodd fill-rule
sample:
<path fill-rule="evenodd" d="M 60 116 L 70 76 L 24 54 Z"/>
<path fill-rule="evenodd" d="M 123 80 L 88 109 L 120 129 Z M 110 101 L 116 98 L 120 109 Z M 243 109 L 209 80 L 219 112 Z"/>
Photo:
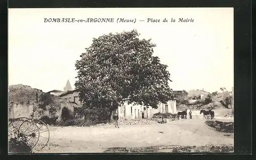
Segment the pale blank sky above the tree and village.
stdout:
<path fill-rule="evenodd" d="M 174 90 L 233 86 L 233 8 L 46 8 L 8 10 L 8 81 L 48 92 L 73 89 L 75 62 L 103 34 L 136 29 L 157 45 Z M 127 18 L 135 23 L 56 23 L 44 18 Z M 147 18 L 160 22 L 147 22 Z M 162 22 L 167 18 L 168 22 Z M 170 19 L 176 19 L 170 22 Z M 178 22 L 193 18 L 194 22 Z M 144 21 L 139 21 L 144 20 Z"/>

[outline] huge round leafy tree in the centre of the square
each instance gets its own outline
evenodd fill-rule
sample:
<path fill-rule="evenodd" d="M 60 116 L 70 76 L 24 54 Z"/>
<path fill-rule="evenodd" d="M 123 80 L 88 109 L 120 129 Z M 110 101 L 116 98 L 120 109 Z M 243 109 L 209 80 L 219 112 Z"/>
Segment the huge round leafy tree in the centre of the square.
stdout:
<path fill-rule="evenodd" d="M 167 65 L 152 56 L 154 47 L 151 39 L 139 39 L 136 30 L 93 38 L 75 64 L 83 106 L 110 114 L 124 101 L 157 108 L 172 99 Z"/>

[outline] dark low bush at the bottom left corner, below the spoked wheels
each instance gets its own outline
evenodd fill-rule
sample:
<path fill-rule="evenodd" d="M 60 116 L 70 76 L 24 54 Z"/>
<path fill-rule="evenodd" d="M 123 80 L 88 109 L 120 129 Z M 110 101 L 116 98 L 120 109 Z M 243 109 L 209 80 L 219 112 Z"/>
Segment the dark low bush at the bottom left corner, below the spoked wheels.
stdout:
<path fill-rule="evenodd" d="M 26 139 L 11 138 L 8 141 L 9 152 L 11 153 L 32 153 L 32 148 L 27 145 Z"/>

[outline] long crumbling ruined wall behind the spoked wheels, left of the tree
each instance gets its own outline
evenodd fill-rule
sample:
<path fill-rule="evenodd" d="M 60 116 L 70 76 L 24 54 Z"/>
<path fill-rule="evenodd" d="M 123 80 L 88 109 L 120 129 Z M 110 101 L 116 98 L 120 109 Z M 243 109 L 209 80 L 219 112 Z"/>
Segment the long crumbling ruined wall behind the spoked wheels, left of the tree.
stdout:
<path fill-rule="evenodd" d="M 49 118 L 58 116 L 60 119 L 63 107 L 66 106 L 74 111 L 73 106 L 80 106 L 22 84 L 9 86 L 8 101 L 8 118 L 40 119 L 42 116 Z"/>

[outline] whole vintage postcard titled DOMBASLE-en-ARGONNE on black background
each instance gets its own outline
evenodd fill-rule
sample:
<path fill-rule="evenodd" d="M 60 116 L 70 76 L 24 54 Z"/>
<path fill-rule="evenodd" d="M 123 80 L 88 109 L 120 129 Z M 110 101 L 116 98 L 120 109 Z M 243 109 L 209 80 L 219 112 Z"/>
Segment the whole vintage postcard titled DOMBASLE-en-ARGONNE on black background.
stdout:
<path fill-rule="evenodd" d="M 233 152 L 233 8 L 8 14 L 9 153 Z"/>

